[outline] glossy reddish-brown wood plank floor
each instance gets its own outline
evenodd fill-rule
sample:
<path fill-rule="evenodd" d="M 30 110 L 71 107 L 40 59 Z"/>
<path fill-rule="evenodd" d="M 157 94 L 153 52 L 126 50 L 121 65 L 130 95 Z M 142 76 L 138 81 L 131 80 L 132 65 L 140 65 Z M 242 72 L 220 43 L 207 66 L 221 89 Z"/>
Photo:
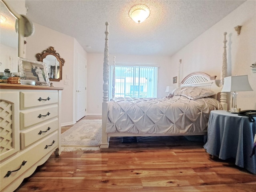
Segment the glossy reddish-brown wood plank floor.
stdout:
<path fill-rule="evenodd" d="M 256 191 L 256 175 L 232 161 L 212 160 L 202 142 L 182 136 L 131 140 L 110 138 L 109 149 L 52 154 L 15 192 Z"/>

